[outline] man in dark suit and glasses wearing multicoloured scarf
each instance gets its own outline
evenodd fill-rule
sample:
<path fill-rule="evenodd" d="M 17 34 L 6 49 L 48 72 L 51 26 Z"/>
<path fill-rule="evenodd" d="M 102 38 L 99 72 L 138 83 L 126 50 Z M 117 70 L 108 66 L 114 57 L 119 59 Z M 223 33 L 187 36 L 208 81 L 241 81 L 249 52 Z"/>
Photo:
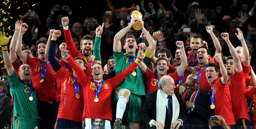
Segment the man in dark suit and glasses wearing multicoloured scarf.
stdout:
<path fill-rule="evenodd" d="M 208 119 L 213 115 L 209 94 L 201 90 L 195 74 L 190 74 L 183 86 L 187 91 L 182 96 L 182 103 L 188 113 L 184 129 L 208 129 Z"/>

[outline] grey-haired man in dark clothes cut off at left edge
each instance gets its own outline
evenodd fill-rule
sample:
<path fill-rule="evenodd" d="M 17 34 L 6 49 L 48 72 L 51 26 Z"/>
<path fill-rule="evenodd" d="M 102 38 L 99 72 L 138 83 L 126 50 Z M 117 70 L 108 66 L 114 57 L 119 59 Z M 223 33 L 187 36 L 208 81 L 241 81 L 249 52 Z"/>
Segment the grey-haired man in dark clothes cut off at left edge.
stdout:
<path fill-rule="evenodd" d="M 7 85 L 4 81 L 0 81 L 0 129 L 11 128 L 12 109 L 10 106 L 11 99 L 6 96 L 8 94 Z"/>

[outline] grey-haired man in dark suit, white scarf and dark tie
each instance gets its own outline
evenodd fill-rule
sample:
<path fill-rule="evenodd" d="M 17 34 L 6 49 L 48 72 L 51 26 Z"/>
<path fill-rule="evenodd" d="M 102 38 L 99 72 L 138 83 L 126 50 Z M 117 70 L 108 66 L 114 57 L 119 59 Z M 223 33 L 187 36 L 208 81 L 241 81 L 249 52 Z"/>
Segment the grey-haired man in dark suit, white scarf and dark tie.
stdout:
<path fill-rule="evenodd" d="M 174 93 L 174 80 L 170 76 L 163 76 L 158 83 L 158 91 L 146 96 L 139 112 L 145 124 L 157 128 L 179 128 L 187 119 L 187 113 L 181 96 Z M 166 126 L 165 126 L 166 125 Z"/>

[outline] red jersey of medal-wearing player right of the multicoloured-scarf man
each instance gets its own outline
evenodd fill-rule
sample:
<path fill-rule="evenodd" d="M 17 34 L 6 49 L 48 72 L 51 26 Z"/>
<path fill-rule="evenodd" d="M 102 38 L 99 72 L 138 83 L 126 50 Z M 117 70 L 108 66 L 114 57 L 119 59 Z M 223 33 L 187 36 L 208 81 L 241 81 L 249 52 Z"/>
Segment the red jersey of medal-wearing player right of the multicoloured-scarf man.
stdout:
<path fill-rule="evenodd" d="M 221 115 L 227 125 L 236 124 L 234 114 L 232 113 L 232 103 L 230 99 L 230 92 L 228 83 L 222 85 L 220 77 L 214 81 L 214 112 L 215 115 Z M 212 86 L 211 86 L 212 89 Z"/>

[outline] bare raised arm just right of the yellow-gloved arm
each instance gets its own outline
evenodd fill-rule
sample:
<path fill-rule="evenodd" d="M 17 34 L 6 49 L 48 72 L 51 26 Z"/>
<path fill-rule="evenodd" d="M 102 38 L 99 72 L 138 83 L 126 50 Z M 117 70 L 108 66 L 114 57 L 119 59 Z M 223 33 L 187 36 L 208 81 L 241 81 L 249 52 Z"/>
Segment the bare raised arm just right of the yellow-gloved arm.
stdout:
<path fill-rule="evenodd" d="M 17 55 L 15 52 L 15 47 L 17 44 L 17 40 L 18 40 L 18 36 L 19 36 L 19 32 L 20 32 L 20 26 L 22 24 L 22 21 L 17 21 L 15 23 L 15 31 L 11 40 L 11 44 L 10 44 L 10 59 L 11 59 L 11 63 L 15 62 L 17 59 Z"/>

